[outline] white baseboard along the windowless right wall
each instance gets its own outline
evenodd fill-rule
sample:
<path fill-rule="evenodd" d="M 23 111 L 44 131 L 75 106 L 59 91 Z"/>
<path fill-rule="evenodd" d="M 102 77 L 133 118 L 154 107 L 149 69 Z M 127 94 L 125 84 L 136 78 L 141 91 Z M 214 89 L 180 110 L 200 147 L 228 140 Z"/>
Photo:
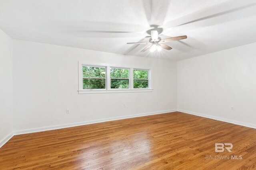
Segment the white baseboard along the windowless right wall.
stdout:
<path fill-rule="evenodd" d="M 245 122 L 241 122 L 241 121 L 225 119 L 225 118 L 211 116 L 211 115 L 204 115 L 204 114 L 201 114 L 201 113 L 195 113 L 195 112 L 192 112 L 192 111 L 186 111 L 186 110 L 181 110 L 181 109 L 178 109 L 178 111 L 183 112 L 183 113 L 188 113 L 188 114 L 191 114 L 191 115 L 196 115 L 196 116 L 200 116 L 200 117 L 206 117 L 206 118 L 209 118 L 209 119 L 224 121 L 224 122 L 233 123 L 233 124 L 236 124 L 236 125 L 241 125 L 241 126 L 246 126 L 246 127 L 251 127 L 251 128 L 256 129 L 256 125 L 250 124 L 250 123 L 245 123 Z"/>

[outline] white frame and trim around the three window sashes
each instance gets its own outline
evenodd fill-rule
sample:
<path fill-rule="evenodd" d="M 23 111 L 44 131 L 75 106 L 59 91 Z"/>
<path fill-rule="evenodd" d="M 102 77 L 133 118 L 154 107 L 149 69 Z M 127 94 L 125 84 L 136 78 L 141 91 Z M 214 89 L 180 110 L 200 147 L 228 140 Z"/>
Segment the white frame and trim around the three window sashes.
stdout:
<path fill-rule="evenodd" d="M 83 66 L 105 67 L 106 68 L 106 89 L 83 89 Z M 129 88 L 111 88 L 110 86 L 110 68 L 129 69 Z M 133 88 L 133 70 L 148 70 L 148 88 Z M 146 79 L 144 79 L 146 80 Z M 153 92 L 151 70 L 147 68 L 132 68 L 123 66 L 110 66 L 108 64 L 82 64 L 78 62 L 78 94 L 95 94 L 95 93 L 129 93 L 129 92 Z"/>

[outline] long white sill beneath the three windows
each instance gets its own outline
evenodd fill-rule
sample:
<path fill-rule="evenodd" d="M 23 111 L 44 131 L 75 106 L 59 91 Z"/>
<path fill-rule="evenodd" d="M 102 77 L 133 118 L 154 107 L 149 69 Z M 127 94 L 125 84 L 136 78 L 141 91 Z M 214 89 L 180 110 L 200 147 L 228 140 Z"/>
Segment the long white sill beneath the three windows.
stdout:
<path fill-rule="evenodd" d="M 78 94 L 153 92 L 153 89 L 78 90 Z"/>

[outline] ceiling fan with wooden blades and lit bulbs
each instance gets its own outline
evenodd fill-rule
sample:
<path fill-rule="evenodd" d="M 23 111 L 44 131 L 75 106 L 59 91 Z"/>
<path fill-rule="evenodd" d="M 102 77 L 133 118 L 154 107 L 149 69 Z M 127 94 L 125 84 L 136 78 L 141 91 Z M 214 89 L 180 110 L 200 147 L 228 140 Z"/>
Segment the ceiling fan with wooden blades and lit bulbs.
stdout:
<path fill-rule="evenodd" d="M 149 39 L 149 42 L 138 42 L 138 43 L 127 43 L 127 44 L 150 44 L 148 47 L 144 48 L 141 52 L 149 50 L 150 52 L 154 51 L 160 51 L 162 49 L 171 50 L 172 47 L 169 47 L 168 45 L 165 45 L 163 43 L 167 43 L 170 41 L 177 41 L 181 39 L 186 39 L 187 36 L 178 36 L 178 37 L 172 37 L 167 39 L 161 39 L 161 37 L 158 37 L 158 31 L 157 30 L 151 30 L 151 38 Z"/>

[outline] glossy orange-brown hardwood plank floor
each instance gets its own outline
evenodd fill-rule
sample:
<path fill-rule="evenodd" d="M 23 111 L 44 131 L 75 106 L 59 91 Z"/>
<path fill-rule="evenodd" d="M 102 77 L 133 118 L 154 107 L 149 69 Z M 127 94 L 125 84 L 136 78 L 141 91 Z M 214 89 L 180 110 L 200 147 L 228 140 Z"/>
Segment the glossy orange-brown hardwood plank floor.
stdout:
<path fill-rule="evenodd" d="M 173 112 L 16 135 L 0 149 L 0 169 L 256 169 L 256 129 Z"/>

